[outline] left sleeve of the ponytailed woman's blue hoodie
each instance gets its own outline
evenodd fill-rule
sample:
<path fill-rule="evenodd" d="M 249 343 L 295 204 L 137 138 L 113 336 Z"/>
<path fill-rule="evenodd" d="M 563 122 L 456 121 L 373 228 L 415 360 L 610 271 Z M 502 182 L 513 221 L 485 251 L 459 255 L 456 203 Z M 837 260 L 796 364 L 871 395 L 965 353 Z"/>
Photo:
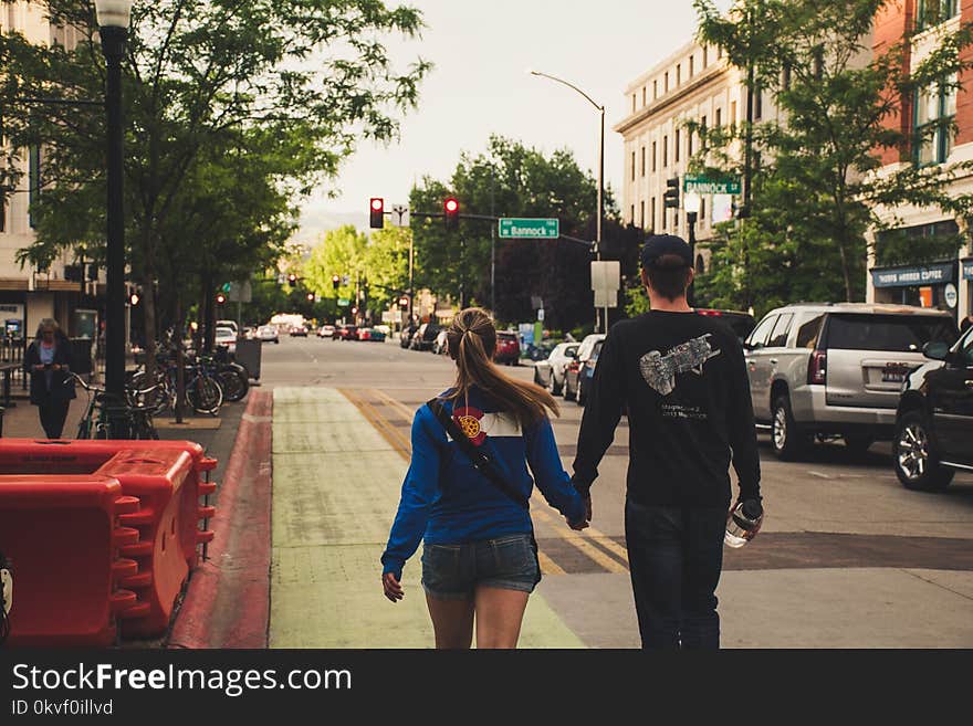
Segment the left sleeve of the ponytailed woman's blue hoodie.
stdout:
<path fill-rule="evenodd" d="M 419 547 L 426 532 L 429 509 L 439 496 L 440 451 L 429 431 L 428 409 L 423 406 L 412 419 L 412 459 L 402 482 L 402 493 L 388 544 L 381 555 L 383 574 L 401 579 L 402 567 Z M 431 415 L 431 413 L 430 413 Z"/>

